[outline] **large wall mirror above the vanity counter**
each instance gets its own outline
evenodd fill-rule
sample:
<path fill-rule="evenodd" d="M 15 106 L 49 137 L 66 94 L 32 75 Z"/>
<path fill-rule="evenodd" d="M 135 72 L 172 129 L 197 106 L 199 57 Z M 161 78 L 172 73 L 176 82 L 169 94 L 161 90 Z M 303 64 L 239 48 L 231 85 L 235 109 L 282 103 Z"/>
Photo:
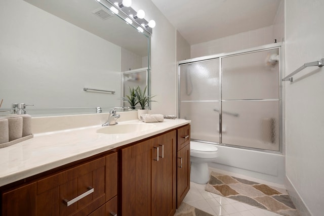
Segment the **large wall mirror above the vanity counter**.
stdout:
<path fill-rule="evenodd" d="M 123 105 L 123 74 L 149 68 L 149 36 L 96 0 L 0 0 L 0 29 L 2 111 L 108 112 Z"/>

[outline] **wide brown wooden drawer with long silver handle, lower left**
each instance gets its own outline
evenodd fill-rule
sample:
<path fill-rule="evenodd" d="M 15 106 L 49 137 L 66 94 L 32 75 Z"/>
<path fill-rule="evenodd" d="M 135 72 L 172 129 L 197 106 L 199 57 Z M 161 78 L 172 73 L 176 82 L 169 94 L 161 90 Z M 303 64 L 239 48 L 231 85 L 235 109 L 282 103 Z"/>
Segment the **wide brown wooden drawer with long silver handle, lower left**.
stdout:
<path fill-rule="evenodd" d="M 116 163 L 117 153 L 113 153 L 37 181 L 37 211 L 88 215 L 117 194 L 117 184 L 110 184 L 117 182 Z"/>

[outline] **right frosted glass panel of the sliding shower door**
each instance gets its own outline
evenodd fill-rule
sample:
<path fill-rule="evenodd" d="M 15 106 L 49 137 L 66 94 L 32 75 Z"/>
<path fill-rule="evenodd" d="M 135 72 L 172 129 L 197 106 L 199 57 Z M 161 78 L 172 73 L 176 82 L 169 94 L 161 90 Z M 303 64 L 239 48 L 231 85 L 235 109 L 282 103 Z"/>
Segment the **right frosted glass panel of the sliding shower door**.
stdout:
<path fill-rule="evenodd" d="M 223 144 L 279 151 L 279 49 L 224 57 Z"/>

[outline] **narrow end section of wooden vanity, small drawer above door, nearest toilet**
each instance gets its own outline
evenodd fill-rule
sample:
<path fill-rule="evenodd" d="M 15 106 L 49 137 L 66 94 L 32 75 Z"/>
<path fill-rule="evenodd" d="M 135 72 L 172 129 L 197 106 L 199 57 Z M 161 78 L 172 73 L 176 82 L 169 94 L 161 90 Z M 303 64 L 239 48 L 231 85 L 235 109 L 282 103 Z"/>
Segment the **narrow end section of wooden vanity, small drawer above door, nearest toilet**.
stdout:
<path fill-rule="evenodd" d="M 190 189 L 190 124 L 177 129 L 177 208 Z"/>

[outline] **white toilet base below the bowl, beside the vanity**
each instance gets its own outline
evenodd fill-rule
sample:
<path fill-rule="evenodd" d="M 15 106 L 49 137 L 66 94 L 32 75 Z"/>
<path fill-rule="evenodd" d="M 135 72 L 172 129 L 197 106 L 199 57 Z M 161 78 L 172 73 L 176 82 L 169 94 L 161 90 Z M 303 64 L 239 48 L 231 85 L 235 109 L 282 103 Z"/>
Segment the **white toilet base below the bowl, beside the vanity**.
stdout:
<path fill-rule="evenodd" d="M 207 184 L 210 178 L 208 163 L 191 162 L 190 181 L 198 184 Z"/>

